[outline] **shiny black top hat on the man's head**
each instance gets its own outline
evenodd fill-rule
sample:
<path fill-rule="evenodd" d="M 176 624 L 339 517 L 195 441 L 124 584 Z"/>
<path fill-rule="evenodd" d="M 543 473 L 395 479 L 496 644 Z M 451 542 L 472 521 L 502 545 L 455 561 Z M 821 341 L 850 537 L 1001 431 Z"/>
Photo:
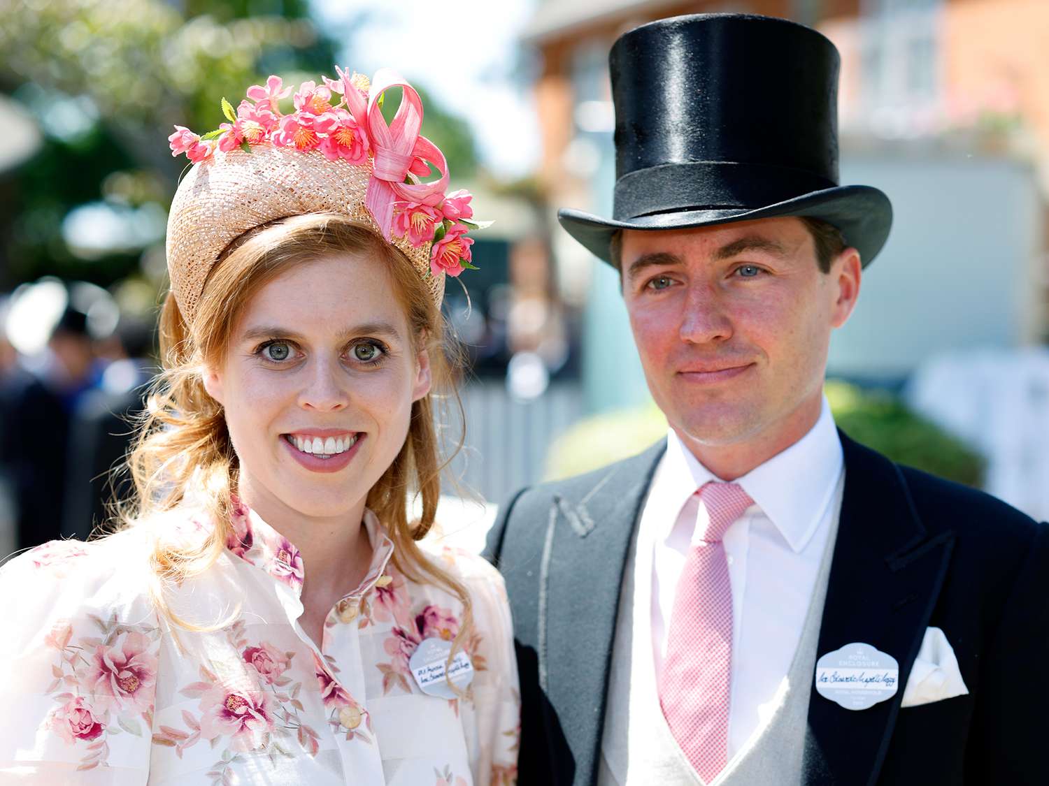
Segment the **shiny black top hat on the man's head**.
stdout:
<path fill-rule="evenodd" d="M 893 208 L 877 189 L 838 185 L 838 63 L 822 35 L 770 17 L 697 14 L 624 34 L 609 57 L 613 218 L 562 210 L 561 226 L 608 262 L 619 230 L 808 216 L 869 264 Z"/>

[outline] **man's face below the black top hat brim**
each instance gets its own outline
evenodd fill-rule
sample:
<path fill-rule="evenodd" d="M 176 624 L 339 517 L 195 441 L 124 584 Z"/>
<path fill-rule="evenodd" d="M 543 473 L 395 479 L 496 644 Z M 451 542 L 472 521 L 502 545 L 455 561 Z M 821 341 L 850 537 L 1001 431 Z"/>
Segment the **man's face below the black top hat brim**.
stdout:
<path fill-rule="evenodd" d="M 847 249 L 821 272 L 792 217 L 627 230 L 621 247 L 648 388 L 682 439 L 718 447 L 784 435 L 786 446 L 804 436 L 818 417 L 831 330 L 859 291 L 859 255 Z"/>

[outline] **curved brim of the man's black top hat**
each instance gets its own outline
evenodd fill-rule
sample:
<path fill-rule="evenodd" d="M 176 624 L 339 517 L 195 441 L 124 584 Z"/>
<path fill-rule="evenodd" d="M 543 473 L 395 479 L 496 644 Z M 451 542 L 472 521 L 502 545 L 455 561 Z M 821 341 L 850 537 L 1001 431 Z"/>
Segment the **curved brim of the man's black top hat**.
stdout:
<path fill-rule="evenodd" d="M 887 196 L 870 185 L 838 185 L 763 208 L 681 210 L 624 220 L 605 219 L 571 209 L 557 213 L 565 232 L 609 264 L 612 238 L 621 230 L 687 230 L 779 216 L 818 218 L 833 224 L 845 242 L 859 252 L 860 261 L 866 267 L 889 239 L 893 205 Z"/>

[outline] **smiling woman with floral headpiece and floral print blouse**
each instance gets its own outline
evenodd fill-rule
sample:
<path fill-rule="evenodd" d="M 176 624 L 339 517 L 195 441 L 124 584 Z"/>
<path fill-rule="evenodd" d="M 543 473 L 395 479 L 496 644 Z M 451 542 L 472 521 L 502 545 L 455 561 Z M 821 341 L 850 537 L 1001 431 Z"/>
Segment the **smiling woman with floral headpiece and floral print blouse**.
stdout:
<path fill-rule="evenodd" d="M 0 571 L 6 779 L 515 781 L 501 580 L 419 543 L 440 492 L 441 293 L 470 265 L 470 197 L 445 194 L 409 85 L 339 77 L 305 83 L 288 114 L 271 78 L 235 114 L 223 101 L 218 132 L 172 135 L 195 166 L 168 224 L 134 507 L 114 534 Z"/>

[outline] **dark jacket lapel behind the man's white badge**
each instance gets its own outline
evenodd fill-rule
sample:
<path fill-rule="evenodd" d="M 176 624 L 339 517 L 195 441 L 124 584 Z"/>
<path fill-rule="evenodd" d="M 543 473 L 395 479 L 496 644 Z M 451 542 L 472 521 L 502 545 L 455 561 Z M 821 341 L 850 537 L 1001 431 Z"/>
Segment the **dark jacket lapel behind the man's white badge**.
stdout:
<path fill-rule="evenodd" d="M 877 780 L 954 545 L 951 531 L 926 530 L 893 462 L 844 434 L 841 443 L 845 487 L 817 657 L 869 643 L 899 661 L 900 681 L 892 699 L 862 711 L 844 709 L 813 690 L 806 786 Z"/>

